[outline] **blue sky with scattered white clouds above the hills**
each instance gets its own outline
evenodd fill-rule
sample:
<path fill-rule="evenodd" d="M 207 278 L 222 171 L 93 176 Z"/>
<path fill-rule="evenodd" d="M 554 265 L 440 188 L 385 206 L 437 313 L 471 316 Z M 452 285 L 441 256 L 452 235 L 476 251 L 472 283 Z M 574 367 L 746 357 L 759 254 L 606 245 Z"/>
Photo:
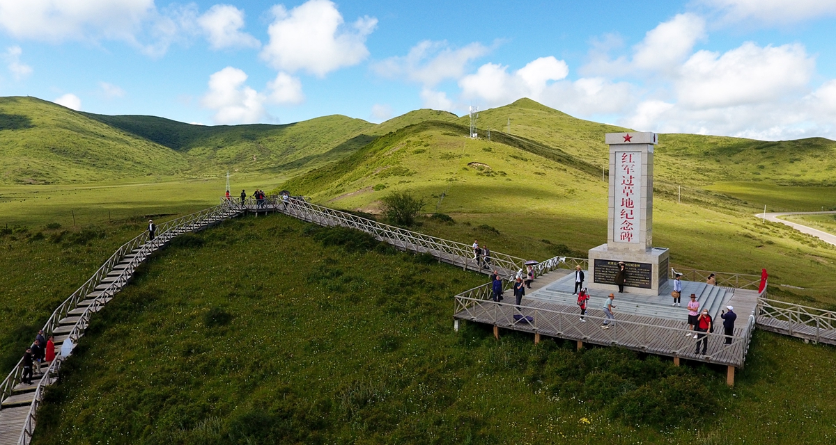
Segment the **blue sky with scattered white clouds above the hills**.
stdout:
<path fill-rule="evenodd" d="M 201 124 L 530 97 L 640 130 L 836 139 L 833 29 L 833 0 L 0 0 L 0 95 Z"/>

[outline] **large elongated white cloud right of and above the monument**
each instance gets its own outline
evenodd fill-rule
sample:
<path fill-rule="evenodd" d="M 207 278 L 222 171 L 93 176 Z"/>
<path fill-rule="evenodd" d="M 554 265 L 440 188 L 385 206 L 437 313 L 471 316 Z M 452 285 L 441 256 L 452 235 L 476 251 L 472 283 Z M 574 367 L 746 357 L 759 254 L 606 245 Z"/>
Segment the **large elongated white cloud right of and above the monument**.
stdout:
<path fill-rule="evenodd" d="M 762 104 L 803 91 L 814 70 L 799 44 L 747 42 L 722 55 L 698 51 L 682 65 L 675 89 L 679 104 L 696 109 Z"/>

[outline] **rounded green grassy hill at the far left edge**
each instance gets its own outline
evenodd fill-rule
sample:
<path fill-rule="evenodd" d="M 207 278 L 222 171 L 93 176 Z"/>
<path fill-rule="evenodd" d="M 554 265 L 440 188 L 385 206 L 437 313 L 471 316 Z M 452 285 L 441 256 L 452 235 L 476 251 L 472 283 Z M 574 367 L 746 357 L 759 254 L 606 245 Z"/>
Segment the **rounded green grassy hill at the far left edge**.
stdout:
<path fill-rule="evenodd" d="M 98 182 L 178 174 L 186 160 L 158 144 L 34 98 L 0 98 L 0 181 Z"/>

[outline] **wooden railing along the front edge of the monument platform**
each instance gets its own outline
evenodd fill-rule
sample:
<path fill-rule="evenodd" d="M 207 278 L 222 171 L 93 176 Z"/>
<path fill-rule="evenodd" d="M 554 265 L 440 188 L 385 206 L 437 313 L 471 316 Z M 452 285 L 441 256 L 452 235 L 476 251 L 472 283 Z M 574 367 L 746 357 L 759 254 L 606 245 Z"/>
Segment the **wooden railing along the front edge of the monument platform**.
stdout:
<path fill-rule="evenodd" d="M 570 312 L 534 306 L 517 306 L 512 302 L 506 303 L 488 300 L 484 298 L 484 296 L 487 295 L 486 286 L 488 285 L 477 286 L 469 291 L 462 292 L 461 294 L 455 296 L 455 313 L 464 311 L 466 314 L 472 315 L 473 318 L 477 318 L 475 311 L 477 306 L 482 309 L 485 309 L 487 306 L 487 310 L 480 312 L 480 314 L 488 314 L 490 318 L 487 321 L 480 320 L 480 322 L 487 322 L 497 326 L 530 326 L 533 328 L 533 331 L 542 331 L 545 335 L 556 335 L 571 340 L 589 341 L 593 343 L 599 342 L 601 344 L 607 344 L 608 346 L 620 345 L 634 350 L 670 355 L 673 357 L 686 356 L 687 351 L 690 351 L 695 347 L 694 341 L 688 341 L 688 337 L 683 336 L 686 333 L 691 333 L 691 331 L 686 328 L 650 325 L 627 320 L 610 321 L 611 327 L 608 331 L 606 331 L 606 334 L 604 334 L 608 337 L 607 341 L 596 341 L 584 334 L 582 328 L 587 325 L 579 320 L 578 311 Z M 522 314 L 524 316 L 532 317 L 533 320 L 516 320 L 512 316 L 508 315 L 509 311 L 501 311 L 500 308 L 502 307 L 513 308 L 513 311 L 510 311 L 510 314 L 512 315 Z M 605 320 L 604 316 L 594 316 L 589 312 L 587 312 L 584 318 L 588 321 L 603 322 Z M 752 337 L 752 329 L 754 328 L 754 321 L 752 319 L 753 317 L 750 316 L 750 320 L 741 336 L 730 336 L 732 342 L 729 344 L 725 343 L 726 338 L 729 338 L 729 336 L 726 336 L 725 334 L 701 332 L 701 335 L 705 334 L 708 337 L 709 344 L 714 346 L 712 347 L 711 354 L 706 356 L 709 357 L 708 361 L 734 367 L 743 367 L 746 352 L 748 351 L 748 344 Z M 659 331 L 670 332 L 675 335 L 660 335 Z M 661 342 L 662 346 L 653 346 L 651 345 L 653 342 L 657 344 Z M 740 352 L 735 351 L 737 346 L 740 346 Z M 733 357 L 731 362 L 713 359 L 713 357 L 716 357 L 723 352 L 728 352 L 729 355 Z"/>

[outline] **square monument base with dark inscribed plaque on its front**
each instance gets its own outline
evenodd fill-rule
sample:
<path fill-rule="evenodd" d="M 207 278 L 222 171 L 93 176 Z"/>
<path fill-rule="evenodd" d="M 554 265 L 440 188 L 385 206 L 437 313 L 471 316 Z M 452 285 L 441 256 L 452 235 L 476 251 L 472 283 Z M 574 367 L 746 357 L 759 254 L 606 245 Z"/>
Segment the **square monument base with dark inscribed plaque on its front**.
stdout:
<path fill-rule="evenodd" d="M 645 251 L 609 249 L 599 245 L 589 250 L 589 289 L 617 292 L 615 274 L 624 261 L 627 282 L 624 292 L 658 296 L 668 281 L 668 250 L 654 247 Z"/>

